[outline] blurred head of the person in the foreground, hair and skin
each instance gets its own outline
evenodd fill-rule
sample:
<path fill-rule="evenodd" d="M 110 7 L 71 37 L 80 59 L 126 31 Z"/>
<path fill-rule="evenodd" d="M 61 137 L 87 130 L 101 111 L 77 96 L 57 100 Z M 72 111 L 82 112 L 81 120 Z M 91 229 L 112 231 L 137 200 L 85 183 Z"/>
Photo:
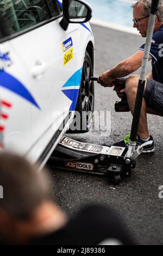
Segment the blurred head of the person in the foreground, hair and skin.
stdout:
<path fill-rule="evenodd" d="M 0 153 L 0 185 L 0 237 L 5 243 L 26 243 L 64 225 L 64 214 L 48 200 L 45 172 L 23 157 Z"/>

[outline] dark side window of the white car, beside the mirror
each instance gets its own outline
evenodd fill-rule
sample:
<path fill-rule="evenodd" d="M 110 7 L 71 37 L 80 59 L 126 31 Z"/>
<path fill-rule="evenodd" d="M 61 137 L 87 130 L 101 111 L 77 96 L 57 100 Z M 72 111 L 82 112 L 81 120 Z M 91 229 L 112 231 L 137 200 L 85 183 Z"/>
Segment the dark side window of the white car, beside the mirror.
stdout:
<path fill-rule="evenodd" d="M 54 0 L 0 0 L 0 11 L 11 34 L 59 15 Z"/>

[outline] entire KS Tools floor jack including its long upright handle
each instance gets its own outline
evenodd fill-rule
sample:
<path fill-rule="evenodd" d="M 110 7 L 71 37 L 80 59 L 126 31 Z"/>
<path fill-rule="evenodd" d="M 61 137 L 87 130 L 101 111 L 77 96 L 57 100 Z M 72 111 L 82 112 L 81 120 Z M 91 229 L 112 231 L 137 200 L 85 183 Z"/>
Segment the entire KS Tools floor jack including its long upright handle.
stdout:
<path fill-rule="evenodd" d="M 136 159 L 142 153 L 143 147 L 151 145 L 152 141 L 136 146 L 136 136 L 139 126 L 143 92 L 146 82 L 147 63 L 154 29 L 155 14 L 159 0 L 152 1 L 149 17 L 145 53 L 142 62 L 141 75 L 137 88 L 133 123 L 128 148 L 114 145 L 103 146 L 74 141 L 64 137 L 58 144 L 50 162 L 57 169 L 74 170 L 77 172 L 108 176 L 112 184 L 117 185 L 122 177 L 130 178 L 131 169 L 135 168 Z M 95 78 L 94 80 L 97 80 Z"/>

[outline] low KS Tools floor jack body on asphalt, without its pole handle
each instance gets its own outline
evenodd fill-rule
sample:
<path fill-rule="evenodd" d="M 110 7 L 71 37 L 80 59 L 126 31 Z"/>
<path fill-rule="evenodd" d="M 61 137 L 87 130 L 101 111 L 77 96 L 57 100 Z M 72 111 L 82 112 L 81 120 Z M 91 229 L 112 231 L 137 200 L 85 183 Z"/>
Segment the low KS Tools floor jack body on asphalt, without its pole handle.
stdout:
<path fill-rule="evenodd" d="M 135 168 L 136 159 L 147 144 L 149 142 L 137 148 L 130 157 L 127 148 L 83 143 L 64 137 L 51 156 L 50 163 L 57 169 L 105 175 L 117 185 L 122 177 L 130 178 L 131 169 Z"/>

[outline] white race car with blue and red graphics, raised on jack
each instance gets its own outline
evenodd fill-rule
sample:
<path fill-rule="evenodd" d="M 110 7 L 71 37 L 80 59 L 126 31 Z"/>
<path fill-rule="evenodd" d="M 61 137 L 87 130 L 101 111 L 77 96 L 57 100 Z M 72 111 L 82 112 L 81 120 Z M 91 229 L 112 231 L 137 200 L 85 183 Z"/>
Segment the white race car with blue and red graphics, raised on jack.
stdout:
<path fill-rule="evenodd" d="M 95 47 L 89 4 L 0 0 L 0 146 L 43 166 L 74 120 L 89 130 Z M 85 125 L 83 125 L 85 124 Z"/>

